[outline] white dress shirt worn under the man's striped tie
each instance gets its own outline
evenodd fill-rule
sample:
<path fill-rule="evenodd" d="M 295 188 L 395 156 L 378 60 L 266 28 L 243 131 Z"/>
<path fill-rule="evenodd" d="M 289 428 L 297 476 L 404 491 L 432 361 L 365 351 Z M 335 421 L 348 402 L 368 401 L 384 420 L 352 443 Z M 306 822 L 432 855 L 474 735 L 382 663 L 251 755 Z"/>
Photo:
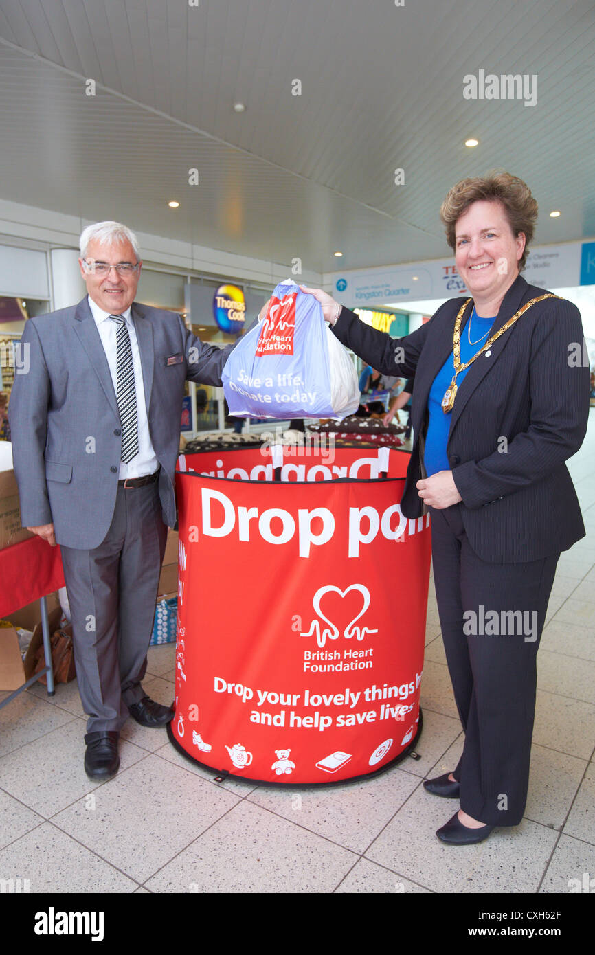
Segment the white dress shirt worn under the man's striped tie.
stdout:
<path fill-rule="evenodd" d="M 109 311 L 99 308 L 90 295 L 89 308 L 96 321 L 99 338 L 105 351 L 105 356 L 110 367 L 112 381 L 114 383 L 114 393 L 117 394 L 117 322 L 115 322 Z M 147 406 L 144 400 L 144 383 L 142 381 L 142 366 L 140 364 L 140 352 L 138 350 L 137 331 L 135 323 L 130 314 L 130 308 L 122 312 L 122 317 L 126 321 L 126 328 L 130 335 L 130 347 L 132 349 L 132 361 L 135 370 L 135 389 L 137 392 L 137 419 L 138 419 L 138 454 L 133 457 L 128 464 L 120 461 L 119 480 L 126 477 L 144 477 L 152 475 L 159 468 L 159 459 L 155 454 L 151 435 L 149 433 L 149 421 L 147 418 Z"/>

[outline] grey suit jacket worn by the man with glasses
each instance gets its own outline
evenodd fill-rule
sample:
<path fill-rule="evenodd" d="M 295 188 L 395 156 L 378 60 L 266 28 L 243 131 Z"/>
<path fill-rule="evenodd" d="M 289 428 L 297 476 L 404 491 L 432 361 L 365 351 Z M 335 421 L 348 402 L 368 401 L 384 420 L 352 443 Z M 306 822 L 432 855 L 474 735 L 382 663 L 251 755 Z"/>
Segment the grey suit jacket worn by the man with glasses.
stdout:
<path fill-rule="evenodd" d="M 184 381 L 221 385 L 235 343 L 205 345 L 180 315 L 133 303 L 151 441 L 159 458 L 163 520 L 176 521 L 174 471 Z M 57 543 L 91 549 L 114 515 L 121 437 L 107 357 L 87 296 L 31 318 L 14 376 L 10 422 L 24 526 L 53 522 Z"/>

